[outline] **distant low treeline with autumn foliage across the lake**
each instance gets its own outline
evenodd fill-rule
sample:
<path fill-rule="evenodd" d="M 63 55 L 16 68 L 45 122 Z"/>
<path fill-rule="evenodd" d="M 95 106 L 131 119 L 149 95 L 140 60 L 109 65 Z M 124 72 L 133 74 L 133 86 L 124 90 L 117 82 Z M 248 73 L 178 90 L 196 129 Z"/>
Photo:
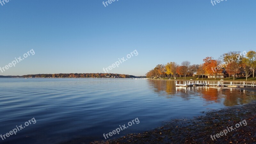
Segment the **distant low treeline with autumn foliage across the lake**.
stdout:
<path fill-rule="evenodd" d="M 0 76 L 0 78 L 13 78 L 13 77 L 41 77 L 41 78 L 144 78 L 145 76 L 132 76 L 124 74 L 111 74 L 111 73 L 71 73 L 71 74 L 36 74 L 24 76 Z"/>

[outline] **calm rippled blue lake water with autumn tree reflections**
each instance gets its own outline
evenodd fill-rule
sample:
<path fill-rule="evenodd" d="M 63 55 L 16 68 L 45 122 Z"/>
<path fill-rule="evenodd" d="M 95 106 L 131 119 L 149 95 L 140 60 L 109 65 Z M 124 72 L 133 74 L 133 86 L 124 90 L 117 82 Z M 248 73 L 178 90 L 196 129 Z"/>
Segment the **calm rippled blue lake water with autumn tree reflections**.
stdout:
<path fill-rule="evenodd" d="M 173 118 L 255 100 L 253 88 L 177 88 L 174 81 L 102 78 L 0 78 L 0 134 L 35 118 L 0 143 L 44 144 L 105 140 L 135 118 L 140 123 L 115 134 L 152 130 Z"/>

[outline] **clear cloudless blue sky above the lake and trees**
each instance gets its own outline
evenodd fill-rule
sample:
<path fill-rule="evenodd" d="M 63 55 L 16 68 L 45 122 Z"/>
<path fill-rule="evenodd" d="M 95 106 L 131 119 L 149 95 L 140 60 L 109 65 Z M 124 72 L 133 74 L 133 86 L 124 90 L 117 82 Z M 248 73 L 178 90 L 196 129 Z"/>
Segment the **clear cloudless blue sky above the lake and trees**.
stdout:
<path fill-rule="evenodd" d="M 104 0 L 106 1 L 106 0 Z M 214 3 L 213 3 L 214 4 Z M 106 4 L 105 4 L 106 5 Z M 0 4 L 0 75 L 110 73 L 144 76 L 157 64 L 203 63 L 228 51 L 256 50 L 256 1 L 10 0 Z"/>

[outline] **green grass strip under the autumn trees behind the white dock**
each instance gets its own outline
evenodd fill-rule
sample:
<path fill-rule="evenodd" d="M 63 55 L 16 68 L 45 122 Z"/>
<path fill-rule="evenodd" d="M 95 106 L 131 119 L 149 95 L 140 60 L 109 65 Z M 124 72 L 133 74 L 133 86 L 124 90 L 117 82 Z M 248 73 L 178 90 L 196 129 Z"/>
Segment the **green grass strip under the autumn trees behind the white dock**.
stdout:
<path fill-rule="evenodd" d="M 193 80 L 201 80 L 202 81 L 202 78 L 199 78 L 199 79 L 196 79 L 197 77 L 195 77 L 195 76 L 190 76 L 190 77 L 186 77 L 186 80 L 190 80 L 190 79 L 193 79 Z M 155 79 L 157 79 L 157 78 L 155 78 Z M 158 79 L 160 79 L 160 78 L 158 78 Z M 162 78 L 161 78 L 162 79 Z M 167 78 L 167 77 L 164 77 L 163 79 L 165 79 L 165 80 L 168 80 L 169 78 Z M 170 79 L 172 79 L 172 80 L 174 80 L 174 77 L 171 77 Z M 219 81 L 220 79 L 223 79 L 224 81 L 234 81 L 233 80 L 233 77 L 230 77 L 230 79 L 227 77 L 227 78 L 216 78 L 216 81 Z M 176 80 L 184 80 L 184 77 L 176 77 Z M 203 78 L 203 80 L 205 81 L 205 80 L 207 80 L 207 81 L 215 81 L 215 79 L 214 78 Z M 235 77 L 235 81 L 246 81 L 246 78 L 245 77 Z M 253 78 L 253 77 L 248 77 L 247 78 L 247 81 L 248 82 L 256 82 L 256 77 L 255 78 Z"/>

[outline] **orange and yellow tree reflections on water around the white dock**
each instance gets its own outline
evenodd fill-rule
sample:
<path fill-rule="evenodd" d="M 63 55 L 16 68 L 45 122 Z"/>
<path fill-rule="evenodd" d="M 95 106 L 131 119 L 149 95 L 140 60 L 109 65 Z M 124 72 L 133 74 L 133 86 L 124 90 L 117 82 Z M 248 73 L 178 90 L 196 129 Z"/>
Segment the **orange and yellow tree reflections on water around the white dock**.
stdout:
<path fill-rule="evenodd" d="M 234 106 L 250 103 L 255 100 L 255 88 L 228 88 L 228 87 L 176 87 L 175 81 L 149 80 L 152 91 L 159 96 L 173 98 L 180 96 L 190 100 L 195 96 L 203 98 L 208 103 L 223 103 L 225 106 Z"/>

